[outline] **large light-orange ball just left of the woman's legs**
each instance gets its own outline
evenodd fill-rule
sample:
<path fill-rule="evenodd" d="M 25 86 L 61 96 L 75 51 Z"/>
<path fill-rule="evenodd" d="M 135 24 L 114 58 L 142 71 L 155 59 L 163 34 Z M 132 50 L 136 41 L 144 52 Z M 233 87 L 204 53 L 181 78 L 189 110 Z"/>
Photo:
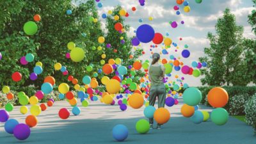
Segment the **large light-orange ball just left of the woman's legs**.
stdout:
<path fill-rule="evenodd" d="M 144 99 L 142 97 L 142 95 L 140 93 L 133 93 L 130 97 L 129 97 L 129 105 L 134 108 L 134 109 L 138 109 L 141 108 L 141 106 L 143 106 L 144 104 Z"/>

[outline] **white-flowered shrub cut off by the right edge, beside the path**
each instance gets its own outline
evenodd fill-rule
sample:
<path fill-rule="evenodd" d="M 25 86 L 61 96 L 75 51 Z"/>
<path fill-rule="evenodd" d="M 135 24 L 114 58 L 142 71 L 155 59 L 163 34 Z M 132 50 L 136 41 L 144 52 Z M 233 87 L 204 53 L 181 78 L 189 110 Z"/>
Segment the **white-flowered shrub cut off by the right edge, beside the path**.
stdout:
<path fill-rule="evenodd" d="M 253 128 L 255 129 L 255 134 L 256 134 L 256 93 L 253 95 L 253 97 L 249 100 L 247 100 L 245 104 L 245 122 L 248 125 L 252 125 Z"/>

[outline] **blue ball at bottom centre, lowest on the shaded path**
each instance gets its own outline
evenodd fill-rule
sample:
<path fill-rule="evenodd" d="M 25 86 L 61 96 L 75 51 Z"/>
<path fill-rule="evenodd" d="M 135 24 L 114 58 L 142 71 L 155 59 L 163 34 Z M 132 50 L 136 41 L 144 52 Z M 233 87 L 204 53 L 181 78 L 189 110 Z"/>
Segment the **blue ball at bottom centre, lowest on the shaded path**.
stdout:
<path fill-rule="evenodd" d="M 128 137 L 128 129 L 125 125 L 118 124 L 113 127 L 112 135 L 115 140 L 124 141 Z"/>

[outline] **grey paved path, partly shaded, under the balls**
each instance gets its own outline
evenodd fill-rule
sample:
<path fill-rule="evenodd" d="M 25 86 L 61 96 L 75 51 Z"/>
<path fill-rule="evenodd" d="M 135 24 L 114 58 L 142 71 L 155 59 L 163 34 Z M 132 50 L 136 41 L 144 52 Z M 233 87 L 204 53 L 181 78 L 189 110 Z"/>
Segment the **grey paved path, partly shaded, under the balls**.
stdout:
<path fill-rule="evenodd" d="M 181 106 L 182 104 L 178 104 L 168 108 L 171 118 L 161 130 L 152 129 L 148 134 L 137 134 L 135 124 L 140 118 L 145 118 L 143 108 L 128 108 L 127 111 L 120 111 L 118 106 L 91 102 L 87 108 L 80 106 L 79 116 L 72 115 L 68 120 L 61 120 L 58 117 L 58 110 L 60 108 L 71 110 L 68 103 L 63 100 L 55 102 L 54 106 L 38 116 L 38 125 L 31 129 L 31 135 L 25 141 L 16 140 L 4 131 L 4 124 L 0 124 L 0 143 L 118 143 L 113 140 L 111 130 L 116 124 L 124 124 L 129 129 L 129 136 L 122 143 L 127 144 L 256 144 L 252 127 L 236 118 L 230 117 L 227 124 L 223 126 L 214 125 L 209 121 L 193 124 L 189 118 L 181 116 Z M 200 106 L 200 109 L 211 111 L 211 108 L 205 106 Z M 26 118 L 19 113 L 19 106 L 15 106 L 10 115 L 10 118 L 16 118 L 20 123 L 24 123 Z"/>

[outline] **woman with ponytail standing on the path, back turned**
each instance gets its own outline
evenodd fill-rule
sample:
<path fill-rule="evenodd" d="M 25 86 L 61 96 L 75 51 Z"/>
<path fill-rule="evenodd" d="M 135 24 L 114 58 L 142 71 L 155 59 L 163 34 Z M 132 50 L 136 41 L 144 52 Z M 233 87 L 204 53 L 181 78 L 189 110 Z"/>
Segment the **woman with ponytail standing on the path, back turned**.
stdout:
<path fill-rule="evenodd" d="M 154 53 L 152 56 L 153 60 L 149 67 L 149 80 L 150 92 L 149 92 L 149 105 L 154 106 L 156 97 L 158 99 L 158 108 L 163 108 L 165 104 L 166 90 L 163 83 L 165 68 L 163 65 L 159 65 L 160 54 Z M 153 128 L 154 119 L 149 119 L 150 129 Z M 157 129 L 161 129 L 161 125 L 157 124 Z"/>

